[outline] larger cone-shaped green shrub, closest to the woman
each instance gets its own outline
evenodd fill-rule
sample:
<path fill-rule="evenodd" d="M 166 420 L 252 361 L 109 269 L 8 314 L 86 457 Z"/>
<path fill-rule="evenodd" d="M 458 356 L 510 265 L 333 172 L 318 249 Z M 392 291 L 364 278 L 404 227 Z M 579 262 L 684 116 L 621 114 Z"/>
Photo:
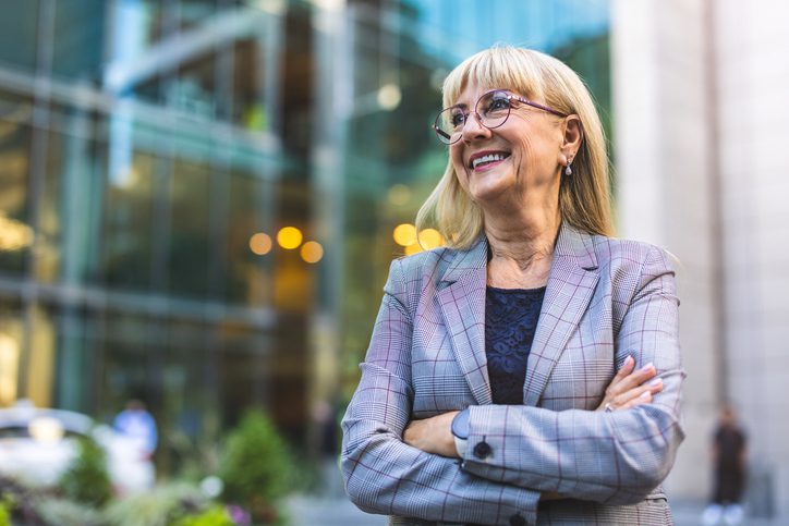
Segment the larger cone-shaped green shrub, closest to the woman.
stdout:
<path fill-rule="evenodd" d="M 252 513 L 256 523 L 278 521 L 277 505 L 293 488 L 290 451 L 271 420 L 251 411 L 230 432 L 220 463 L 223 498 Z"/>

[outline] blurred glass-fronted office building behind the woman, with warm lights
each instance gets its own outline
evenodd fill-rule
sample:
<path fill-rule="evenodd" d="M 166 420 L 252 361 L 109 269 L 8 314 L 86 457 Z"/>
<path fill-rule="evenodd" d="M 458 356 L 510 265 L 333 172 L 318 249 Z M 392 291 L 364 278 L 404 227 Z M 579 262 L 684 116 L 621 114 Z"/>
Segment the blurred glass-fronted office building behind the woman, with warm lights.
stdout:
<path fill-rule="evenodd" d="M 166 469 L 250 406 L 306 444 L 497 41 L 608 107 L 605 1 L 0 1 L 0 405 L 142 397 Z"/>

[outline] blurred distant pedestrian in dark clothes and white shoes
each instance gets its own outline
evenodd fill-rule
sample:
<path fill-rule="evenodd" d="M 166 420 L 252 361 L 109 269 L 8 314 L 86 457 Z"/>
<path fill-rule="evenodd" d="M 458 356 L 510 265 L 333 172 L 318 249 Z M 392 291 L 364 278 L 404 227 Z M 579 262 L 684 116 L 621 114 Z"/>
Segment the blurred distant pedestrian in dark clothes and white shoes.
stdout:
<path fill-rule="evenodd" d="M 743 516 L 740 501 L 745 486 L 748 438 L 729 405 L 720 412 L 712 445 L 715 491 L 702 519 L 705 525 L 718 524 L 721 519 L 726 524 L 740 524 Z"/>

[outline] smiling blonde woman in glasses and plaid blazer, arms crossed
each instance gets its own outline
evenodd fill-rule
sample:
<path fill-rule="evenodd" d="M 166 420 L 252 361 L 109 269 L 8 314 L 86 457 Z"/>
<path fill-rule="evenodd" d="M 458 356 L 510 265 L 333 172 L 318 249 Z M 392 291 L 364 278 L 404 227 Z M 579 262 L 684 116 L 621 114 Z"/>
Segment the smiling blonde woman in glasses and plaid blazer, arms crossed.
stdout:
<path fill-rule="evenodd" d="M 343 420 L 349 496 L 391 524 L 670 524 L 673 271 L 608 237 L 586 88 L 501 47 L 452 71 L 444 102 L 449 164 L 417 224 L 449 246 L 392 262 Z"/>

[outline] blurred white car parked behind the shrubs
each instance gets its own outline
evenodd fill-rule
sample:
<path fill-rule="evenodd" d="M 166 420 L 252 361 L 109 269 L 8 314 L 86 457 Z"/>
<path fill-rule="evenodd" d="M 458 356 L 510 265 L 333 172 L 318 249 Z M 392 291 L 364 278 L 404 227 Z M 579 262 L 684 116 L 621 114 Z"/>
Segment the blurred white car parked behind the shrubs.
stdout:
<path fill-rule="evenodd" d="M 92 437 L 107 452 L 118 494 L 153 487 L 154 464 L 137 440 L 97 425 L 89 416 L 37 408 L 26 401 L 0 409 L 0 474 L 34 485 L 54 484 L 76 455 L 83 437 Z"/>

